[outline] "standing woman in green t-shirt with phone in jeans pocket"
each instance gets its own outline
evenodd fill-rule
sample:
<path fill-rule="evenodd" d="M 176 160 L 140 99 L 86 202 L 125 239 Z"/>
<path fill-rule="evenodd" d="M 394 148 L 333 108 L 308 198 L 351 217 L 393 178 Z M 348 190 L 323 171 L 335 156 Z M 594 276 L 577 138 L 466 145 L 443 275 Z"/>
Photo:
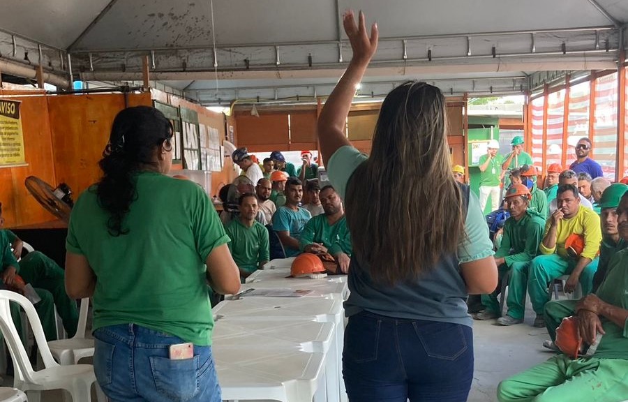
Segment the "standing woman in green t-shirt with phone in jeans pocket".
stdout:
<path fill-rule="evenodd" d="M 70 216 L 66 291 L 94 297 L 94 371 L 112 402 L 220 401 L 207 283 L 237 293 L 239 271 L 207 194 L 165 175 L 172 135 L 154 107 L 119 112 L 103 177 Z"/>

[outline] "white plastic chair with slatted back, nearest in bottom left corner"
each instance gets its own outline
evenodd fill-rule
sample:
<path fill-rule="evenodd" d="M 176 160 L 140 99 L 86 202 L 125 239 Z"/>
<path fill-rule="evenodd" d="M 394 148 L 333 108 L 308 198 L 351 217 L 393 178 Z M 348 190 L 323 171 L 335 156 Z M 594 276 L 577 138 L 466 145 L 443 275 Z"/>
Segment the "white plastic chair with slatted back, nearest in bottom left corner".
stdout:
<path fill-rule="evenodd" d="M 45 366 L 43 370 L 34 371 L 31 366 L 26 349 L 11 320 L 9 301 L 20 304 L 27 313 Z M 91 364 L 59 366 L 54 361 L 37 312 L 26 297 L 8 290 L 0 290 L 0 329 L 13 359 L 15 368 L 13 386 L 27 392 L 32 402 L 38 402 L 40 392 L 48 389 L 64 389 L 70 393 L 74 402 L 91 402 L 91 385 L 96 382 L 94 366 Z"/>

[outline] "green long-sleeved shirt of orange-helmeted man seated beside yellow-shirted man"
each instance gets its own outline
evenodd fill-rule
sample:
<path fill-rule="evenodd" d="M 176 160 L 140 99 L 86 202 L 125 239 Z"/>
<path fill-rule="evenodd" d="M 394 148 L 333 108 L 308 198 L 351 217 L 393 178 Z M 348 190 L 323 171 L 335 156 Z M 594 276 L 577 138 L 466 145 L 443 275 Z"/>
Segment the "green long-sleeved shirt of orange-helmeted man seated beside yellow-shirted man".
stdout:
<path fill-rule="evenodd" d="M 545 218 L 539 212 L 525 211 L 525 215 L 516 221 L 510 217 L 504 223 L 502 244 L 495 253 L 495 258 L 503 257 L 506 265 L 513 262 L 528 262 L 539 253 L 539 243 L 543 239 Z"/>

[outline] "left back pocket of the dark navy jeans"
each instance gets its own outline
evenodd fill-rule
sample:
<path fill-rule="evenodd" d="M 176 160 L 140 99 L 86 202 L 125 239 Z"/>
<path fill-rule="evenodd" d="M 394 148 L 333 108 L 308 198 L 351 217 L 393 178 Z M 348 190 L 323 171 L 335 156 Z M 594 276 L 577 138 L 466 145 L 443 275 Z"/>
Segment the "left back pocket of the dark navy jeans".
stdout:
<path fill-rule="evenodd" d="M 380 343 L 382 320 L 359 314 L 349 318 L 345 331 L 343 358 L 356 363 L 377 360 L 377 346 Z"/>

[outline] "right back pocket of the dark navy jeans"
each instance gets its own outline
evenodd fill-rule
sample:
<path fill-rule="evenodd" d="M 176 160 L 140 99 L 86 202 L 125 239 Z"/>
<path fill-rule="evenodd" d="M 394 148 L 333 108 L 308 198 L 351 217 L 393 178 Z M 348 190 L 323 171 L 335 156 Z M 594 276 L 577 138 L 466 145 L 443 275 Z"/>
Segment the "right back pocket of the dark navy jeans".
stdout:
<path fill-rule="evenodd" d="M 456 360 L 468 348 L 461 325 L 449 322 L 412 322 L 425 352 L 429 357 Z"/>

